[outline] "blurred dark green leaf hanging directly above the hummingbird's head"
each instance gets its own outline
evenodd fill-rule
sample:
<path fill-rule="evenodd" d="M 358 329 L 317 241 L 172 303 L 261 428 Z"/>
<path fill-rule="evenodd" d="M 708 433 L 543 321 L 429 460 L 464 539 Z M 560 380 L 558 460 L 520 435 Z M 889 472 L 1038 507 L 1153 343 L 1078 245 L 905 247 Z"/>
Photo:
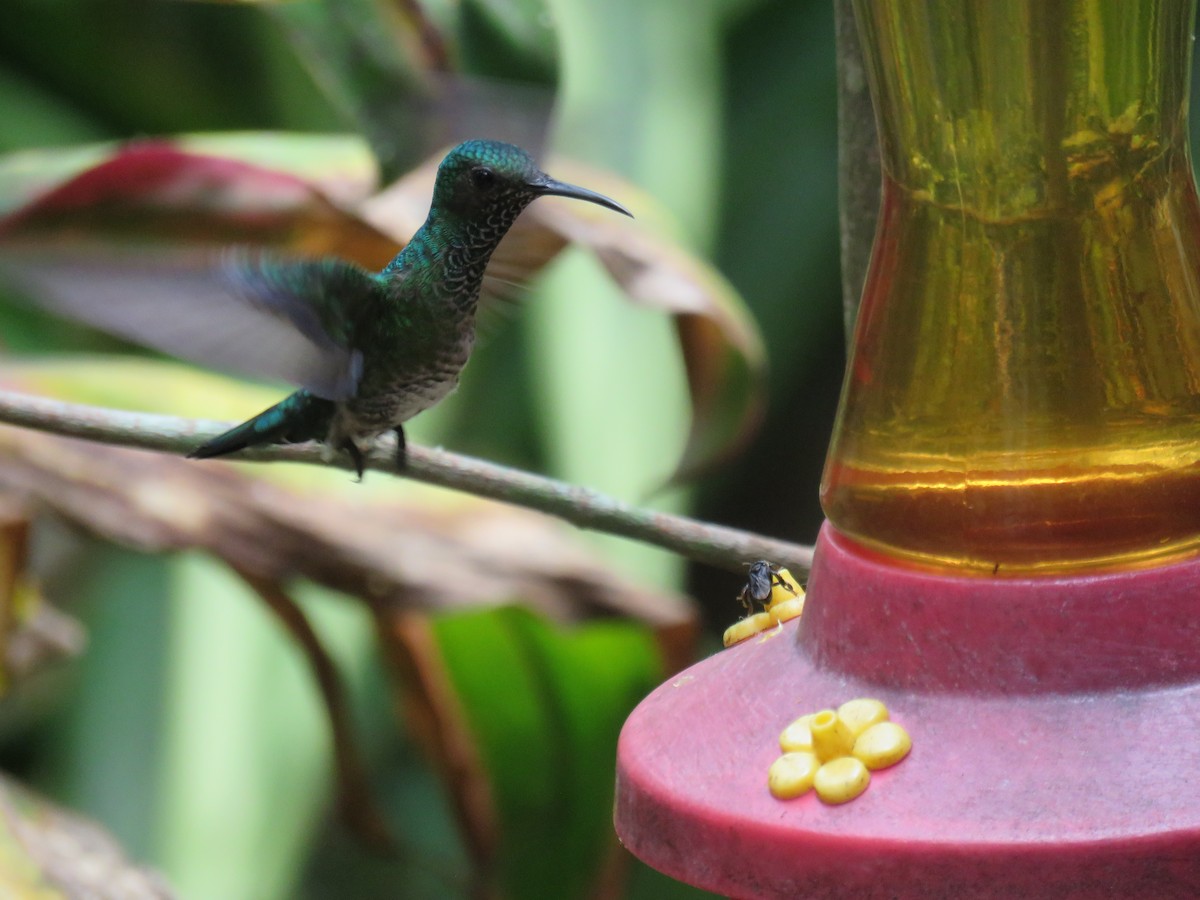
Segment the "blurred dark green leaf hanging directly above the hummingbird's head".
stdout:
<path fill-rule="evenodd" d="M 468 138 L 545 143 L 557 44 L 539 0 L 469 0 L 440 16 L 421 2 L 253 2 L 389 179 Z"/>

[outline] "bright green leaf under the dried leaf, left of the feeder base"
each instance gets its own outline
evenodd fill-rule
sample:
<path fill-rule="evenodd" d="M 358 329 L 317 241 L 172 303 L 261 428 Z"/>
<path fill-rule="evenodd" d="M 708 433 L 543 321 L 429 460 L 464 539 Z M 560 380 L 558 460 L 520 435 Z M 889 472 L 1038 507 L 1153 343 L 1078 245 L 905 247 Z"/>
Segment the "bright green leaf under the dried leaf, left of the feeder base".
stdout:
<path fill-rule="evenodd" d="M 452 786 L 485 871 L 505 898 L 590 895 L 613 859 L 617 736 L 662 677 L 654 634 L 618 620 L 558 628 L 521 607 L 428 628 L 437 740 L 458 763 Z"/>

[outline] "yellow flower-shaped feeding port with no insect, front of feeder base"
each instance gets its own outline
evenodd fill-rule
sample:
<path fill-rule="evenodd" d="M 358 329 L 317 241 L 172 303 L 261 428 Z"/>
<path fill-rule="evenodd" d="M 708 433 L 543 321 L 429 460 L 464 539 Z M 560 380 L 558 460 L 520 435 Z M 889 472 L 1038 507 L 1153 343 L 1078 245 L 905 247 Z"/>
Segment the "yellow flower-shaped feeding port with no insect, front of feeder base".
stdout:
<path fill-rule="evenodd" d="M 863 697 L 802 715 L 780 733 L 779 746 L 784 755 L 767 773 L 772 794 L 790 800 L 815 787 L 824 803 L 838 804 L 862 794 L 871 772 L 907 756 L 912 738 L 883 703 Z"/>

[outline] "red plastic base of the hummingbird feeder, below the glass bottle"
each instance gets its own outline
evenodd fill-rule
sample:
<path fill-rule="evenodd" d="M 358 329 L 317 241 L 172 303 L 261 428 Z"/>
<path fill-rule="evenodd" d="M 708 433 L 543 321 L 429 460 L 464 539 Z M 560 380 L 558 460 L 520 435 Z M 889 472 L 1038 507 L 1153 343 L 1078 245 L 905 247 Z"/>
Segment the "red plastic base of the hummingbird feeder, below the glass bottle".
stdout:
<path fill-rule="evenodd" d="M 779 800 L 779 732 L 882 700 L 912 752 Z M 1200 559 L 961 578 L 826 526 L 804 616 L 692 666 L 620 736 L 617 832 L 737 898 L 1200 896 Z"/>

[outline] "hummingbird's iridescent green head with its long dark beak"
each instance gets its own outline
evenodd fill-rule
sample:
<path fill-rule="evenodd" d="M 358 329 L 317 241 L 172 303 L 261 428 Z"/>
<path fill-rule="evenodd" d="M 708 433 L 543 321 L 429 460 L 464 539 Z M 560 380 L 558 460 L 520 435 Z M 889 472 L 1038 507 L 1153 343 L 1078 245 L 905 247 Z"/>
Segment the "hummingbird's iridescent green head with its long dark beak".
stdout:
<path fill-rule="evenodd" d="M 487 222 L 499 216 L 511 224 L 538 197 L 574 197 L 630 215 L 604 194 L 556 181 L 520 146 L 498 140 L 468 140 L 446 154 L 438 167 L 433 209 Z M 500 224 L 493 222 L 493 224 Z"/>

